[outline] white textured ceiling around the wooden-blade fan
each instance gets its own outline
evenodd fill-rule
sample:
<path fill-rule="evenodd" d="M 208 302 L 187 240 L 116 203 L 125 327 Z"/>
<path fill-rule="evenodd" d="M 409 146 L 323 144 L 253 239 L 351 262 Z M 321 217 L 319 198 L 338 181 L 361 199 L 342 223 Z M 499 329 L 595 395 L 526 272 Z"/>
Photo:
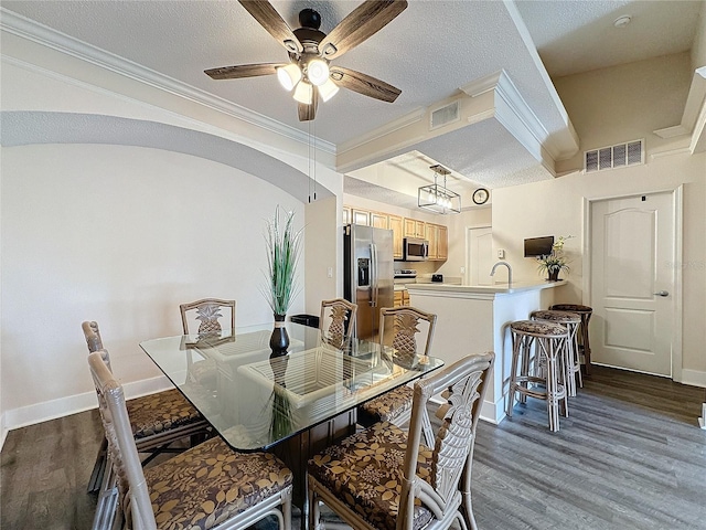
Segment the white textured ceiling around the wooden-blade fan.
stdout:
<path fill-rule="evenodd" d="M 360 1 L 271 3 L 292 28 L 299 25 L 297 13 L 301 9 L 313 8 L 322 15 L 321 30 L 329 32 Z M 462 86 L 501 70 L 547 136 L 566 132 L 567 116 L 547 72 L 552 76 L 567 75 L 688 50 L 704 3 L 410 0 L 387 26 L 334 60 L 334 64 L 397 86 L 402 89 L 399 98 L 388 104 L 342 89 L 319 105 L 312 132 L 339 149 L 347 148 L 371 131 L 452 97 Z M 297 119 L 296 103 L 275 76 L 213 81 L 203 73 L 216 66 L 287 60 L 284 47 L 236 1 L 3 0 L 2 8 L 308 131 L 308 124 Z M 632 23 L 616 29 L 612 22 L 621 14 L 632 15 Z M 523 152 L 518 144 L 509 146 L 507 131 L 500 130 L 502 127 L 482 124 L 467 129 L 473 132 L 427 141 L 426 147 L 435 152 L 425 155 L 452 170 L 462 169 L 471 187 L 550 178 L 536 160 L 517 168 L 516 160 L 526 158 L 527 151 Z M 454 167 L 456 162 L 461 165 L 460 152 L 464 152 L 462 168 Z M 426 159 L 420 162 L 419 157 L 409 158 L 417 161 L 410 171 L 431 177 Z M 477 162 L 471 168 L 468 160 Z M 346 180 L 346 191 L 355 192 L 351 182 Z"/>

